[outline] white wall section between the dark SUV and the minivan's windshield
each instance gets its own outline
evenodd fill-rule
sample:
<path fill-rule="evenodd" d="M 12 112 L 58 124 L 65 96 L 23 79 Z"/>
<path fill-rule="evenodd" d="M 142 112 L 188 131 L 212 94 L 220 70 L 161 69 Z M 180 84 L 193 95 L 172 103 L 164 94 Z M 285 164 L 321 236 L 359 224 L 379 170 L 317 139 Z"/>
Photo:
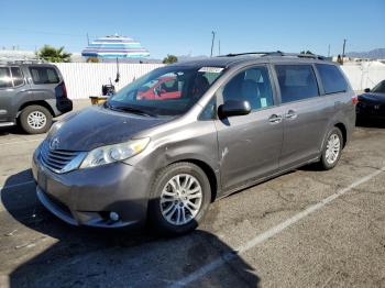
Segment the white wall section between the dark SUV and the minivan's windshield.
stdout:
<path fill-rule="evenodd" d="M 70 99 L 101 95 L 101 86 L 110 84 L 110 78 L 119 90 L 134 78 L 163 66 L 161 64 L 119 64 L 120 81 L 114 84 L 116 63 L 56 63 L 55 65 L 64 77 Z"/>

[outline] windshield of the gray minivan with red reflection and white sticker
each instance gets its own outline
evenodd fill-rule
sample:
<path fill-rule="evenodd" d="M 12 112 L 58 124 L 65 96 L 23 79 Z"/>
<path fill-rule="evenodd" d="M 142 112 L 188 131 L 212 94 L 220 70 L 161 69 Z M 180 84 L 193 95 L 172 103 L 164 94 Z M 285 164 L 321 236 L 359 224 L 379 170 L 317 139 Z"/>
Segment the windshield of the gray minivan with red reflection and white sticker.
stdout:
<path fill-rule="evenodd" d="M 223 67 L 166 66 L 132 81 L 106 108 L 148 117 L 186 113 L 223 73 Z"/>

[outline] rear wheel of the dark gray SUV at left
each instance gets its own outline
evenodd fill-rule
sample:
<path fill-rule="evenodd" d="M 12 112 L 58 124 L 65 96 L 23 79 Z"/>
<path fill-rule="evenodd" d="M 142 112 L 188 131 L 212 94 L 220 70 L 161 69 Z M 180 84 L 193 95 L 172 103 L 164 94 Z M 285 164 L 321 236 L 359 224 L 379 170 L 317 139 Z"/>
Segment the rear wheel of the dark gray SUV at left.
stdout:
<path fill-rule="evenodd" d="M 28 106 L 20 114 L 20 124 L 29 134 L 41 134 L 52 125 L 51 112 L 42 106 Z"/>

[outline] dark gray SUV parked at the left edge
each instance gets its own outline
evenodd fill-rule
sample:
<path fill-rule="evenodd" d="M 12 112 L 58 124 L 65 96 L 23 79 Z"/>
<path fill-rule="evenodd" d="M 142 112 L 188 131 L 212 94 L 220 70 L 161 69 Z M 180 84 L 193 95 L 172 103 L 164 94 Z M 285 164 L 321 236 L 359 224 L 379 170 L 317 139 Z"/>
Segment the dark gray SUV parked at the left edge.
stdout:
<path fill-rule="evenodd" d="M 51 64 L 0 64 L 0 126 L 20 124 L 30 134 L 73 110 L 61 71 Z"/>

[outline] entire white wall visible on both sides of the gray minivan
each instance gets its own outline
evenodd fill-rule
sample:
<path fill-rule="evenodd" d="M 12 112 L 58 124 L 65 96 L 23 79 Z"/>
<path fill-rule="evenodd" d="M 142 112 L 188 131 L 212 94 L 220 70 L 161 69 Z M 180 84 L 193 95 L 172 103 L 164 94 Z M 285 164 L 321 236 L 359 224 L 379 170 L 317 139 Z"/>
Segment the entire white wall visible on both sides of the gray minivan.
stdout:
<path fill-rule="evenodd" d="M 57 63 L 56 66 L 63 74 L 70 99 L 101 95 L 101 86 L 109 84 L 110 78 L 113 82 L 117 76 L 114 63 Z M 119 64 L 120 81 L 113 82 L 116 89 L 119 90 L 134 78 L 162 66 L 162 64 Z M 348 76 L 353 90 L 373 88 L 385 79 L 385 65 L 381 63 L 345 64 L 341 68 Z"/>

